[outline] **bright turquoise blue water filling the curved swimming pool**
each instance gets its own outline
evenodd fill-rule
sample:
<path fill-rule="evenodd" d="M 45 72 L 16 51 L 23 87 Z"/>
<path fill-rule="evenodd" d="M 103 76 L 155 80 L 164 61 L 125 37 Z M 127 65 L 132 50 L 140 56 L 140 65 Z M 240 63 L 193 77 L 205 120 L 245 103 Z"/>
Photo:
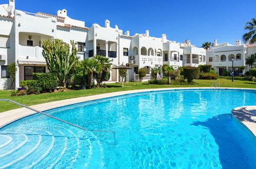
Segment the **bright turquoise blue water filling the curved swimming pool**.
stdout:
<path fill-rule="evenodd" d="M 256 91 L 131 94 L 36 114 L 0 129 L 0 167 L 256 168 L 256 139 L 230 114 Z"/>

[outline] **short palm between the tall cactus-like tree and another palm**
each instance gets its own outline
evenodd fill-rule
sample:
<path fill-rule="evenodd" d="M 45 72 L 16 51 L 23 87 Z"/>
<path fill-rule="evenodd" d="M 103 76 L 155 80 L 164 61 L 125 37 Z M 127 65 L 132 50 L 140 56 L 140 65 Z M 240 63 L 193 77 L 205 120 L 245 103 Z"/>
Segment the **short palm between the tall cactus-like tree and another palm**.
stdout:
<path fill-rule="evenodd" d="M 99 61 L 95 60 L 94 58 L 87 58 L 82 61 L 82 68 L 87 72 L 88 74 L 88 82 L 87 82 L 87 88 L 91 89 L 91 78 L 93 72 L 98 72 L 101 69 L 101 64 Z"/>

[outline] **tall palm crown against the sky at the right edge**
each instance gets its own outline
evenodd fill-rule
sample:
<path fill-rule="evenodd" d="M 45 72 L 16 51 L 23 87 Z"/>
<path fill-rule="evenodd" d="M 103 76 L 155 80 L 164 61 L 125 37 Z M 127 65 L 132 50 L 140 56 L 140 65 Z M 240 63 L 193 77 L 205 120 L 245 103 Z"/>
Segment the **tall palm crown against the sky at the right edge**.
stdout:
<path fill-rule="evenodd" d="M 251 18 L 251 22 L 247 22 L 245 27 L 245 30 L 248 30 L 249 32 L 245 33 L 242 38 L 246 42 L 248 40 L 250 44 L 253 44 L 256 42 L 256 19 Z"/>

